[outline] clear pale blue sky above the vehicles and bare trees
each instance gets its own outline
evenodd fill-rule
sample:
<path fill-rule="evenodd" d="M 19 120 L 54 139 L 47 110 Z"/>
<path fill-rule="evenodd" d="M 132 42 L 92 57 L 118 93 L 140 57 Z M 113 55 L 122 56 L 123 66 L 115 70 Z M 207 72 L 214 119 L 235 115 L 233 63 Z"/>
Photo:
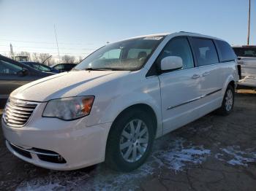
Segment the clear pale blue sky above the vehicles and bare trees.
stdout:
<path fill-rule="evenodd" d="M 47 52 L 83 58 L 132 36 L 189 31 L 246 44 L 249 0 L 0 0 L 0 54 Z M 256 44 L 252 0 L 250 44 Z"/>

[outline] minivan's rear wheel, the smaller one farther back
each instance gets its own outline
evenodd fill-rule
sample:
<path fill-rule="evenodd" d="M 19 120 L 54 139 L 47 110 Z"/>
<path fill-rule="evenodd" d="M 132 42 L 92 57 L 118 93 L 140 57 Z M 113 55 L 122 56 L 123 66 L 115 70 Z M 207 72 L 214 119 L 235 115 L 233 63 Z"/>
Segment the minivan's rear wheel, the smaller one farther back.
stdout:
<path fill-rule="evenodd" d="M 228 115 L 233 111 L 235 103 L 235 90 L 231 85 L 227 85 L 224 98 L 222 100 L 222 106 L 217 110 L 217 114 Z"/>

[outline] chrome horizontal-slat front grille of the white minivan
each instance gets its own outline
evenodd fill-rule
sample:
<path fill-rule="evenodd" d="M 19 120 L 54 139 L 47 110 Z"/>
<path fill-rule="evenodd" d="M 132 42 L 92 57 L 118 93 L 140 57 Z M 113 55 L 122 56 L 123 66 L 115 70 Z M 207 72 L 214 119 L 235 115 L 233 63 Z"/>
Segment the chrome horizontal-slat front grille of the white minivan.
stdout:
<path fill-rule="evenodd" d="M 10 127 L 20 128 L 26 124 L 36 107 L 35 102 L 10 98 L 4 109 L 4 122 Z"/>

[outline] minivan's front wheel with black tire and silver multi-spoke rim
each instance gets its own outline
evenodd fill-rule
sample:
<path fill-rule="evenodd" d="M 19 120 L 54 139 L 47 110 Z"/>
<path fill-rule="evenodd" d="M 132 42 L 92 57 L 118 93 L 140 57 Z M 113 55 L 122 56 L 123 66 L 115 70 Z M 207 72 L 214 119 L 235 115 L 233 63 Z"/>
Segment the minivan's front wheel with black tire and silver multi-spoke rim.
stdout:
<path fill-rule="evenodd" d="M 154 143 L 153 124 L 151 117 L 143 110 L 131 109 L 121 114 L 110 129 L 105 163 L 113 170 L 123 172 L 140 167 L 146 161 Z"/>

